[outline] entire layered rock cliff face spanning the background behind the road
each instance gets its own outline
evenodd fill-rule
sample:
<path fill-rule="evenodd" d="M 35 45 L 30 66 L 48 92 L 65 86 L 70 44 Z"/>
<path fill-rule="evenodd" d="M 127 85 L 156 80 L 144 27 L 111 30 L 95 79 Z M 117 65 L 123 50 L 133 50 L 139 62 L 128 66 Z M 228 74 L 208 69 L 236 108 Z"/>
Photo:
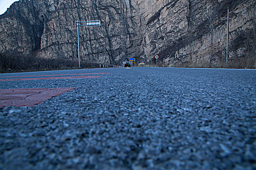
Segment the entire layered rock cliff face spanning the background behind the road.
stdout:
<path fill-rule="evenodd" d="M 209 14 L 215 11 L 213 64 L 226 55 L 230 8 L 229 60 L 244 57 L 241 34 L 252 29 L 248 11 L 255 0 L 20 0 L 0 16 L 0 52 L 19 51 L 46 58 L 117 64 L 128 58 L 150 63 L 155 54 L 168 66 L 209 62 Z M 213 8 L 216 7 L 216 8 Z M 239 41 L 238 41 L 239 40 Z M 244 39 L 242 39 L 244 40 Z M 241 42 L 241 41 L 240 41 Z M 155 60 L 153 59 L 153 63 Z"/>

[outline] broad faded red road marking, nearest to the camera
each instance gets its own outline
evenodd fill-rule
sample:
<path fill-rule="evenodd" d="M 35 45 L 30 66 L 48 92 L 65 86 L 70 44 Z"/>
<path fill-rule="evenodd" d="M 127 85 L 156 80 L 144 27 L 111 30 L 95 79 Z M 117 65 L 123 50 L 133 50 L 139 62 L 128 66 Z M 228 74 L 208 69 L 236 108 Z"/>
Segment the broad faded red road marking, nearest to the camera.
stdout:
<path fill-rule="evenodd" d="M 5 106 L 32 107 L 76 87 L 0 89 L 0 108 Z"/>

